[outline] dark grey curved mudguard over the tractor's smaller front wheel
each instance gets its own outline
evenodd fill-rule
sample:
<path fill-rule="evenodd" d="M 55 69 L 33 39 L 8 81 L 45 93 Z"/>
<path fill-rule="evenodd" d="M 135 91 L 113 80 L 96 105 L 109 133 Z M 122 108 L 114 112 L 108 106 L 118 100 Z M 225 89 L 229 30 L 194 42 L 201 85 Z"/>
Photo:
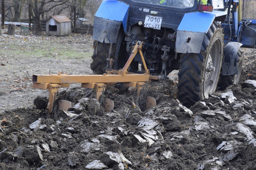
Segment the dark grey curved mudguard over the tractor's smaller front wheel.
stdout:
<path fill-rule="evenodd" d="M 224 57 L 222 61 L 222 75 L 234 75 L 238 74 L 238 62 L 240 56 L 238 51 L 242 44 L 240 42 L 229 42 L 224 47 Z"/>

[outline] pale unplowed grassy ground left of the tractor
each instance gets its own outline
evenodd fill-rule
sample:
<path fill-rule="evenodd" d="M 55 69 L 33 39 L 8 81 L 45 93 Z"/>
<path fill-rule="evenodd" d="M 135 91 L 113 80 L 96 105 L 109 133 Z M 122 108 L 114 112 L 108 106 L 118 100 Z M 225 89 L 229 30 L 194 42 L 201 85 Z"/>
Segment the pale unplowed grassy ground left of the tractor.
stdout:
<path fill-rule="evenodd" d="M 30 107 L 37 95 L 47 95 L 32 88 L 33 74 L 92 74 L 90 36 L 20 36 L 18 30 L 0 37 L 0 113 Z"/>

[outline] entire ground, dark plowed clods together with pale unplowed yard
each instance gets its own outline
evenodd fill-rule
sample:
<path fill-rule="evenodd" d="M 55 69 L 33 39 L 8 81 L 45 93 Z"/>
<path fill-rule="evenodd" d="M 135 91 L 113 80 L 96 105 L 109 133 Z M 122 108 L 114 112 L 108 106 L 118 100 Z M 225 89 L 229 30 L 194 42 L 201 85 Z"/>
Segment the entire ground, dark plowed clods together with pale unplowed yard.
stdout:
<path fill-rule="evenodd" d="M 57 101 L 76 107 L 47 119 L 48 91 L 32 88 L 31 76 L 93 74 L 93 40 L 18 32 L 0 40 L 0 169 L 256 169 L 255 49 L 244 49 L 239 84 L 191 108 L 179 103 L 172 73 L 139 97 L 108 86 L 97 101 L 80 84 L 61 88 Z M 156 107 L 146 108 L 147 96 Z"/>

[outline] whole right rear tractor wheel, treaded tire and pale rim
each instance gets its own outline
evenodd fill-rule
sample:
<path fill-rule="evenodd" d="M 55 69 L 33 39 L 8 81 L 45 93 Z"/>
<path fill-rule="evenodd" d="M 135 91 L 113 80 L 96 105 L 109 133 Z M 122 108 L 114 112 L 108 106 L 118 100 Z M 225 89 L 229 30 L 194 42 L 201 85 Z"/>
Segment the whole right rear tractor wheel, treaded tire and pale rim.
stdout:
<path fill-rule="evenodd" d="M 216 91 L 224 51 L 222 28 L 213 23 L 205 34 L 201 52 L 180 57 L 178 95 L 187 107 Z"/>

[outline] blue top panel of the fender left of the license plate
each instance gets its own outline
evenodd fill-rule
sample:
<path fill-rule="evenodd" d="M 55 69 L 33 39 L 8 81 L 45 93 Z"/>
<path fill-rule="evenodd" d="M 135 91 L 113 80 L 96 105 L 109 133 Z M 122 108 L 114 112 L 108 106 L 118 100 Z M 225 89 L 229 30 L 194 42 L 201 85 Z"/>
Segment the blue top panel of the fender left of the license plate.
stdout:
<path fill-rule="evenodd" d="M 120 1 L 103 1 L 95 16 L 122 22 L 127 15 L 128 8 L 129 5 Z"/>

